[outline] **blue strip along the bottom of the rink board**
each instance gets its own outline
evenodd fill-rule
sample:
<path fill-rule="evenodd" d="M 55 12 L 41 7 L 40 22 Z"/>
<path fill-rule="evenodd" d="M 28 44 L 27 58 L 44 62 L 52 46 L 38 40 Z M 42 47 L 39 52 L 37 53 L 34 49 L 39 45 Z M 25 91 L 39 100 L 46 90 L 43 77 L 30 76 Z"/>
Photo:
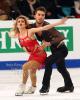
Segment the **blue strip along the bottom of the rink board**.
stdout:
<path fill-rule="evenodd" d="M 13 69 L 22 69 L 22 65 L 26 61 L 1 61 L 0 70 L 13 70 Z M 80 68 L 80 60 L 66 60 L 67 68 Z M 4 67 L 5 66 L 5 67 Z M 55 64 L 52 65 L 52 68 L 56 68 Z"/>

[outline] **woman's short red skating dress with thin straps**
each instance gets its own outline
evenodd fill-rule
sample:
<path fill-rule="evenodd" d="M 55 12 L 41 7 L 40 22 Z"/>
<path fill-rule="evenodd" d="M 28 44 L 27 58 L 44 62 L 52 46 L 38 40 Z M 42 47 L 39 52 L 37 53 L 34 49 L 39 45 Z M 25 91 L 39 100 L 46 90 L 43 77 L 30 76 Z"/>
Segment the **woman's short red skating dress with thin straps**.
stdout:
<path fill-rule="evenodd" d="M 27 36 L 25 38 L 19 38 L 19 42 L 20 42 L 21 47 L 25 47 L 26 50 L 30 52 L 28 61 L 36 60 L 41 64 L 44 63 L 44 61 L 47 57 L 47 54 L 44 50 L 41 51 L 39 49 L 40 45 L 36 39 L 32 40 L 27 34 Z M 35 49 L 35 46 L 37 46 L 36 49 Z"/>

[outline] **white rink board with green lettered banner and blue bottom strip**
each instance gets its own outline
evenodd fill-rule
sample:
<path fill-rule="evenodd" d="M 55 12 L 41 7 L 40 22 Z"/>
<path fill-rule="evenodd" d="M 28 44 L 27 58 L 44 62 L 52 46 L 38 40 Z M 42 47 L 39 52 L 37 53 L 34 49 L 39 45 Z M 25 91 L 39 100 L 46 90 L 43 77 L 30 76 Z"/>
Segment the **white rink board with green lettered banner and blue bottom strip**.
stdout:
<path fill-rule="evenodd" d="M 59 19 L 47 20 L 53 23 Z M 34 22 L 34 20 L 30 20 Z M 69 19 L 64 25 L 55 27 L 64 36 L 68 47 L 66 67 L 77 68 L 80 66 L 80 19 Z M 21 69 L 22 64 L 27 61 L 29 55 L 20 47 L 18 39 L 9 38 L 8 32 L 13 27 L 13 21 L 0 21 L 0 69 Z M 50 49 L 46 48 L 50 55 Z M 53 64 L 52 66 L 56 66 Z"/>

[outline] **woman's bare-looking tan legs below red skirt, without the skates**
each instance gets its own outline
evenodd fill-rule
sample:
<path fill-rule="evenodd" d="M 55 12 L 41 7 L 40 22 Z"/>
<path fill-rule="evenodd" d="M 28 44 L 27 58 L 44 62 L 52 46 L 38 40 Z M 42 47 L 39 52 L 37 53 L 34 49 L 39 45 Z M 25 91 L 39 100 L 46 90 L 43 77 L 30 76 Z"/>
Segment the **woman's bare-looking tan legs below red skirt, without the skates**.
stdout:
<path fill-rule="evenodd" d="M 23 69 L 23 83 L 26 84 L 27 79 L 28 79 L 28 70 L 30 70 L 30 78 L 32 82 L 32 86 L 36 87 L 36 71 L 39 68 L 40 63 L 31 60 L 23 64 L 22 69 Z"/>

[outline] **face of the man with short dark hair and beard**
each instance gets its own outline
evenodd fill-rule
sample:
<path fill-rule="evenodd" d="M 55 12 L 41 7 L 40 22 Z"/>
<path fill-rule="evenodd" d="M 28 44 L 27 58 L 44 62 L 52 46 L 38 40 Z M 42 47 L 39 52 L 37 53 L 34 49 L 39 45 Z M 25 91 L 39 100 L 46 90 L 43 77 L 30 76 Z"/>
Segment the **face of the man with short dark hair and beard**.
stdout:
<path fill-rule="evenodd" d="M 35 17 L 37 24 L 42 24 L 45 19 L 45 12 L 38 10 L 34 17 Z"/>

